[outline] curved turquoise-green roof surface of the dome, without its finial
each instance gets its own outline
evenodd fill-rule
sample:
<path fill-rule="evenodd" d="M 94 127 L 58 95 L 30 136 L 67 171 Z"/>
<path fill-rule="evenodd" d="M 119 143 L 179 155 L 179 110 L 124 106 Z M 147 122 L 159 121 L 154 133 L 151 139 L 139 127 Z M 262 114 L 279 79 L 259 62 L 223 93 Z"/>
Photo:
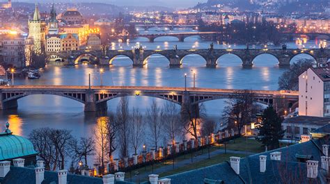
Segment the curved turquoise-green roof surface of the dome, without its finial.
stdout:
<path fill-rule="evenodd" d="M 0 160 L 36 155 L 30 140 L 11 133 L 0 133 Z"/>

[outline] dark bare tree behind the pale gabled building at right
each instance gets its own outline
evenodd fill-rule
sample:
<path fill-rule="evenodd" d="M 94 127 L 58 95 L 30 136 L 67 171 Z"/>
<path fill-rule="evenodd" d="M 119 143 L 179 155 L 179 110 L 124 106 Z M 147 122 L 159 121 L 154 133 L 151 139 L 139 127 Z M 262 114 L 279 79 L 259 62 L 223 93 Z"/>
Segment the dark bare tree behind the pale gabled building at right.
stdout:
<path fill-rule="evenodd" d="M 278 90 L 299 90 L 299 76 L 308 68 L 313 67 L 314 60 L 301 59 L 293 63 L 288 71 L 278 78 Z"/>

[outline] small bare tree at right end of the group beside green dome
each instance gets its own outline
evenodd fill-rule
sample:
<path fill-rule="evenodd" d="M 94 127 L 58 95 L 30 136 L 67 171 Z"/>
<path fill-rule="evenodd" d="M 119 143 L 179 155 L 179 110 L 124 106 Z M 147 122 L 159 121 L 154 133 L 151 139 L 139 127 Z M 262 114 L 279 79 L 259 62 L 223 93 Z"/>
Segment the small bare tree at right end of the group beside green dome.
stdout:
<path fill-rule="evenodd" d="M 85 165 L 88 165 L 87 157 L 95 155 L 95 141 L 93 137 L 80 137 L 80 140 L 72 139 L 70 147 L 73 153 L 72 159 L 74 161 L 84 159 Z"/>

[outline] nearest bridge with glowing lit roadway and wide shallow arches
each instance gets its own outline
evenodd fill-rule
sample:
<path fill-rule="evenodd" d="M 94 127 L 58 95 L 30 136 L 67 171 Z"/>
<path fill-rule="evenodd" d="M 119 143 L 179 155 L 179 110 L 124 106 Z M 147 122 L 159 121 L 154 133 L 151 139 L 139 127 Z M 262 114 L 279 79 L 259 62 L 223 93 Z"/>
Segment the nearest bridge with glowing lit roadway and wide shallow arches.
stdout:
<path fill-rule="evenodd" d="M 143 87 L 143 86 L 68 86 L 68 85 L 13 85 L 1 86 L 0 109 L 17 108 L 17 99 L 33 94 L 51 94 L 84 103 L 86 112 L 107 109 L 107 101 L 118 97 L 146 96 L 178 103 L 182 108 L 215 99 L 242 95 L 245 90 L 224 90 L 196 87 Z M 297 103 L 298 92 L 251 90 L 256 101 L 276 108 L 289 108 Z M 197 106 L 198 107 L 198 106 Z"/>

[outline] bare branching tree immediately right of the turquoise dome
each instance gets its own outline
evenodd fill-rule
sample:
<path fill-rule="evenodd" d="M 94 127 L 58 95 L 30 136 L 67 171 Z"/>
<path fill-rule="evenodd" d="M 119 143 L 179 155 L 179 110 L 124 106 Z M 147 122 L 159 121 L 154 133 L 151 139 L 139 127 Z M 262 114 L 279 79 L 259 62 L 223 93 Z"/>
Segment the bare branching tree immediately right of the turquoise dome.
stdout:
<path fill-rule="evenodd" d="M 34 129 L 29 135 L 29 140 L 31 140 L 34 149 L 38 152 L 38 156 L 44 160 L 45 169 L 47 170 L 56 165 L 56 150 L 49 137 L 51 131 L 51 128 L 38 128 Z"/>

